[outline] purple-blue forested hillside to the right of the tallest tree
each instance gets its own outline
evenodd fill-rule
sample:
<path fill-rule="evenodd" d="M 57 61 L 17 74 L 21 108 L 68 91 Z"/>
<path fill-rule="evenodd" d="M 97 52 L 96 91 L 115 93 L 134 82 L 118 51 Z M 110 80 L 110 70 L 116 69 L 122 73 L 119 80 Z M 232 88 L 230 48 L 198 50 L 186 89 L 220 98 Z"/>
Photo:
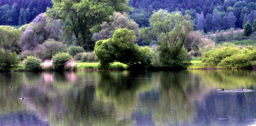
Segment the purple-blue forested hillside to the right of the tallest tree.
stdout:
<path fill-rule="evenodd" d="M 139 23 L 143 18 L 147 19 L 148 13 L 160 9 L 189 14 L 195 20 L 196 30 L 204 30 L 205 33 L 243 29 L 247 21 L 252 25 L 256 19 L 256 2 L 253 0 L 130 0 L 129 3 L 135 8 L 131 18 L 135 22 L 139 20 L 137 23 L 140 27 L 148 26 L 148 21 Z M 143 13 L 146 16 L 141 16 Z"/>

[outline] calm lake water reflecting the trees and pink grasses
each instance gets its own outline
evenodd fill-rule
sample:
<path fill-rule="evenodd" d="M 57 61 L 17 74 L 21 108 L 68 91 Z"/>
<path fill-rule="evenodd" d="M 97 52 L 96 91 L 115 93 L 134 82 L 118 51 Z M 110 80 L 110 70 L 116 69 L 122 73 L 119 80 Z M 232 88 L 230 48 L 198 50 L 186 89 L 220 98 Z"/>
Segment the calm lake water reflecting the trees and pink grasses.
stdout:
<path fill-rule="evenodd" d="M 0 73 L 0 126 L 255 125 L 255 92 L 217 90 L 243 87 L 256 70 Z"/>

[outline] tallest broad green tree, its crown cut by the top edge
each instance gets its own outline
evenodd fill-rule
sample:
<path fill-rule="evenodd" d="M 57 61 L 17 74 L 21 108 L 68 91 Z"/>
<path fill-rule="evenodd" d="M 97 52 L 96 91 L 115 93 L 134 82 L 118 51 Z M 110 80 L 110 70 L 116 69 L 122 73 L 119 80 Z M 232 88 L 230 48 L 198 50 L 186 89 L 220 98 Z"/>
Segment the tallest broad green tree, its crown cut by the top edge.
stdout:
<path fill-rule="evenodd" d="M 65 39 L 75 41 L 77 46 L 92 50 L 92 34 L 99 32 L 100 24 L 114 11 L 124 12 L 132 8 L 128 0 L 52 0 L 47 14 L 53 19 L 65 22 Z"/>

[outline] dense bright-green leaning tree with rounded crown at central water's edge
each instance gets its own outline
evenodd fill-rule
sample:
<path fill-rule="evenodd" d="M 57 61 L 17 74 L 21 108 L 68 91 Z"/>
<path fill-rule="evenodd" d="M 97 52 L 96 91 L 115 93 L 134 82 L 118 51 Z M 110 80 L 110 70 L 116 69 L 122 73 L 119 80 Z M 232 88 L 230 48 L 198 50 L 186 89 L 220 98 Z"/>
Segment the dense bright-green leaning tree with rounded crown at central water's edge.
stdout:
<path fill-rule="evenodd" d="M 100 64 L 99 69 L 107 68 L 115 61 L 136 68 L 147 67 L 151 63 L 153 52 L 149 47 L 134 44 L 136 37 L 132 30 L 118 29 L 112 38 L 96 42 L 95 54 Z"/>

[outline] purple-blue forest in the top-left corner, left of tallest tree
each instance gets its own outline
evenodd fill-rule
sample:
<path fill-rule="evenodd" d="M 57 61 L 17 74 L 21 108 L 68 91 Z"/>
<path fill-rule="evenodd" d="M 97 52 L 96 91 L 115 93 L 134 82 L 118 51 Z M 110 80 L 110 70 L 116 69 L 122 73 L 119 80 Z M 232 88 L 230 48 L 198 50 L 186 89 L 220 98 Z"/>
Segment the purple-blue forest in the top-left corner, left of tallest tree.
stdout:
<path fill-rule="evenodd" d="M 51 0 L 1 0 L 0 25 L 24 25 L 52 7 Z"/>

